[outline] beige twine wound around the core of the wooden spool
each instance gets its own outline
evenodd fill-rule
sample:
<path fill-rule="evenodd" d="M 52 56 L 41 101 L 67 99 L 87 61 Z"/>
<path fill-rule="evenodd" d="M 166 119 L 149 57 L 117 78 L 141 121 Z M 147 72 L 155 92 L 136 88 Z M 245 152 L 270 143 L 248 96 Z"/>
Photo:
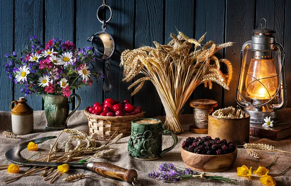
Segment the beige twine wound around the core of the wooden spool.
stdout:
<path fill-rule="evenodd" d="M 193 108 L 194 126 L 199 129 L 208 129 L 208 114 L 212 111 L 213 108 Z"/>

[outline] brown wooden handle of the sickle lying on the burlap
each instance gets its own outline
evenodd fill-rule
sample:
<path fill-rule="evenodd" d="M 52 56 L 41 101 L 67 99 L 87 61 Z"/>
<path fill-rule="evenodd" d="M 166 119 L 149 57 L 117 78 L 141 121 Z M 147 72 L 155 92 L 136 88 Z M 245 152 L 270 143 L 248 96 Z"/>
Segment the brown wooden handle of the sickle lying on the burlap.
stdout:
<path fill-rule="evenodd" d="M 130 184 L 134 181 L 134 178 L 137 180 L 136 170 L 134 169 L 128 170 L 109 163 L 89 162 L 87 164 L 87 169 L 96 172 L 101 176 L 112 178 L 115 180 L 125 181 Z"/>

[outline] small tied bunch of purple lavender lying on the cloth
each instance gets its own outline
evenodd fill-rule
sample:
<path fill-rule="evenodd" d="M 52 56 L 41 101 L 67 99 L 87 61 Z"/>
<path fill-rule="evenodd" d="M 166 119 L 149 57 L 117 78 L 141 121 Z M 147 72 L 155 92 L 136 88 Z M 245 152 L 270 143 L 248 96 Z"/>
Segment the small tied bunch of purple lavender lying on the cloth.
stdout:
<path fill-rule="evenodd" d="M 175 166 L 173 163 L 162 163 L 159 171 L 152 171 L 148 173 L 148 177 L 160 179 L 163 182 L 178 182 L 183 178 L 202 178 L 206 180 L 219 180 L 225 183 L 233 184 L 236 180 L 224 178 L 222 176 L 215 176 L 214 174 L 202 173 L 190 168 L 182 168 Z"/>

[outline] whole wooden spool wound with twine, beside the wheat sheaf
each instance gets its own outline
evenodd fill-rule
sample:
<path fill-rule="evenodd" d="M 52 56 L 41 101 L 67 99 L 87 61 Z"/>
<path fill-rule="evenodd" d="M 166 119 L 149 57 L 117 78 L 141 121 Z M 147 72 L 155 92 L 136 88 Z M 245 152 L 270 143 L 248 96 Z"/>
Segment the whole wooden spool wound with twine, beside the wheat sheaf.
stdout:
<path fill-rule="evenodd" d="M 190 102 L 193 107 L 194 124 L 189 126 L 189 131 L 208 134 L 208 114 L 217 107 L 217 101 L 212 99 L 195 99 Z"/>

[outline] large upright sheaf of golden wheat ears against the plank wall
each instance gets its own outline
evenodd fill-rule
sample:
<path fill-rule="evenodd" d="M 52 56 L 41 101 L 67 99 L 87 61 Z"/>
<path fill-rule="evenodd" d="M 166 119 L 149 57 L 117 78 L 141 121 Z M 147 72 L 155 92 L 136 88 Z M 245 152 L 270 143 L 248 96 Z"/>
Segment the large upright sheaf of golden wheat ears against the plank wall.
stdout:
<path fill-rule="evenodd" d="M 168 45 L 153 42 L 155 48 L 143 46 L 125 50 L 121 55 L 120 66 L 124 67 L 123 81 L 130 82 L 139 73 L 145 75 L 128 87 L 129 90 L 136 86 L 131 95 L 137 93 L 145 81 L 153 83 L 165 108 L 165 125 L 175 133 L 181 133 L 181 109 L 198 85 L 204 84 L 211 89 L 211 82 L 215 82 L 229 90 L 231 63 L 226 59 L 219 60 L 214 53 L 233 43 L 216 45 L 213 41 L 208 41 L 203 46 L 206 34 L 199 40 L 188 38 L 182 32 L 178 36 L 170 36 L 172 40 Z M 190 51 L 192 46 L 193 50 Z M 227 66 L 226 74 L 220 70 L 221 63 Z"/>

